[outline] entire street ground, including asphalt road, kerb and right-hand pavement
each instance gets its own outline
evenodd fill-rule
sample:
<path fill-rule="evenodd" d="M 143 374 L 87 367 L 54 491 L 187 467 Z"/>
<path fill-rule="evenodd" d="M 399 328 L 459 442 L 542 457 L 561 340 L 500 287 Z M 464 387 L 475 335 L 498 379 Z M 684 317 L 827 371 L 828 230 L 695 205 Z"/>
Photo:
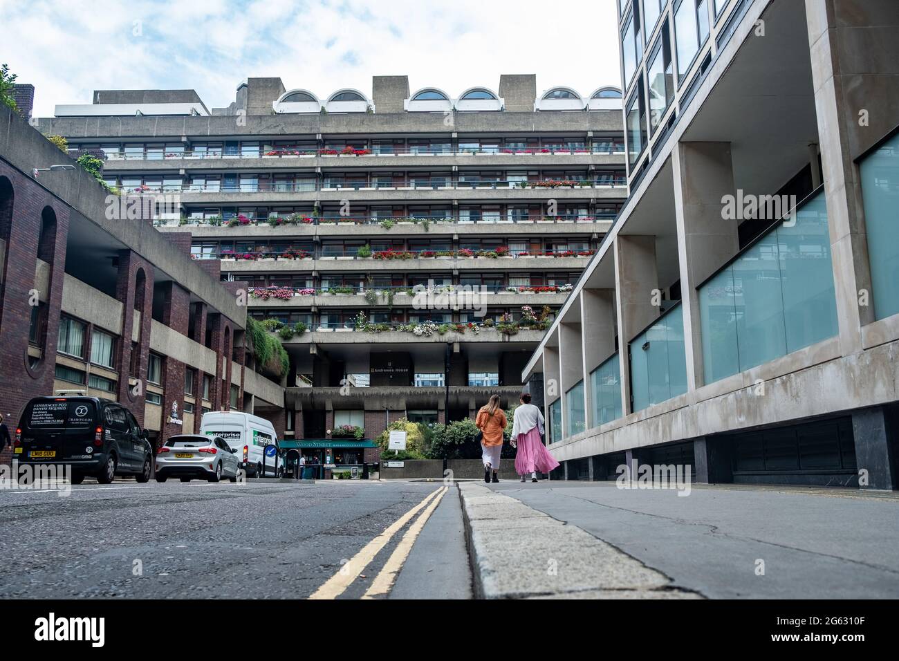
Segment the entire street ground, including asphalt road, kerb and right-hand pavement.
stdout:
<path fill-rule="evenodd" d="M 899 495 L 604 482 L 0 490 L 0 598 L 895 598 Z"/>

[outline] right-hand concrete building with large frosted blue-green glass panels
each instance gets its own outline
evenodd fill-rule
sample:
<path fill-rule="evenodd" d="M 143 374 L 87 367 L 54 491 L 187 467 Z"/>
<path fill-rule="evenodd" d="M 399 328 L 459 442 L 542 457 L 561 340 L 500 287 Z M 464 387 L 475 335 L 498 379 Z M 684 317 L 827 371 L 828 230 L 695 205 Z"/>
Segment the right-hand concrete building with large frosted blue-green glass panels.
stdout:
<path fill-rule="evenodd" d="M 899 4 L 620 0 L 619 28 L 631 195 L 523 373 L 560 475 L 895 489 Z"/>

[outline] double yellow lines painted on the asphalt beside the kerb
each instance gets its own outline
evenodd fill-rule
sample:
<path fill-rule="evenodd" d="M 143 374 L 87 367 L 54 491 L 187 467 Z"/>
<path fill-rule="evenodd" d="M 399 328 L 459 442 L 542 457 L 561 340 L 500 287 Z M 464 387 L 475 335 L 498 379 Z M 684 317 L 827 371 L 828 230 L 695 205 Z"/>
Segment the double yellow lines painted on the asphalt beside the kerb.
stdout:
<path fill-rule="evenodd" d="M 309 599 L 336 599 L 343 594 L 346 589 L 352 585 L 353 581 L 365 571 L 365 567 L 369 566 L 381 549 L 384 549 L 384 547 L 387 546 L 387 543 L 393 539 L 394 535 L 402 530 L 406 523 L 412 521 L 416 514 L 424 510 L 415 523 L 409 526 L 409 530 L 405 531 L 403 539 L 396 545 L 396 549 L 394 549 L 394 552 L 387 558 L 384 567 L 381 568 L 378 576 L 375 576 L 374 581 L 372 581 L 369 589 L 362 598 L 371 599 L 375 596 L 388 594 L 390 588 L 393 587 L 393 584 L 396 581 L 396 575 L 399 574 L 399 570 L 403 567 L 403 563 L 405 563 L 406 558 L 409 557 L 409 553 L 412 551 L 415 540 L 424 528 L 424 524 L 428 523 L 431 514 L 437 509 L 437 505 L 440 505 L 441 498 L 448 490 L 449 487 L 442 487 L 436 491 L 432 491 L 432 493 L 424 498 L 421 503 L 415 505 L 394 523 L 388 525 L 378 537 L 369 541 L 369 543 L 344 564 L 334 576 L 331 576 L 324 585 L 321 585 L 321 587 L 311 594 Z"/>

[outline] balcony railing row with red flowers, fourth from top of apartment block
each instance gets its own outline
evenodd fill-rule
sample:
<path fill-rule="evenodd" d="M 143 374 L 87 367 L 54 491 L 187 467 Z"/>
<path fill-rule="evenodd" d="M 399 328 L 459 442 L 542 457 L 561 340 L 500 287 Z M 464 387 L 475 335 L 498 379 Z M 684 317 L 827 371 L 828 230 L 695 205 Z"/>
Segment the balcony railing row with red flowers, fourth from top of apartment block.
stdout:
<path fill-rule="evenodd" d="M 252 252 L 238 253 L 223 251 L 220 253 L 207 253 L 204 255 L 192 255 L 194 259 L 234 259 L 236 261 L 256 261 L 260 259 L 374 259 L 380 261 L 401 261 L 405 262 L 413 259 L 438 259 L 445 257 L 448 259 L 472 259 L 475 257 L 483 257 L 486 259 L 521 259 L 525 257 L 591 257 L 595 250 L 470 250 L 461 248 L 459 250 L 373 250 L 370 255 L 360 255 L 358 251 L 346 252 L 339 250 L 319 250 L 306 251 L 294 250 L 283 252 Z"/>

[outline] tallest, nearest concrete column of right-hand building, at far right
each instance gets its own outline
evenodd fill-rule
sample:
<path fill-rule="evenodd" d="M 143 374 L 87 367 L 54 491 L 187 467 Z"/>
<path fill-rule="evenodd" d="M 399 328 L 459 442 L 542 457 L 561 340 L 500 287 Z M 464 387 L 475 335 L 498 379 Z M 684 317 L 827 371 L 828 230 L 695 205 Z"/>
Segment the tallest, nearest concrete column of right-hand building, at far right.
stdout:
<path fill-rule="evenodd" d="M 874 320 L 870 305 L 859 306 L 871 272 L 855 159 L 895 127 L 895 112 L 886 109 L 899 102 L 897 20 L 899 7 L 889 0 L 806 0 L 843 355 L 861 350 L 861 326 Z"/>

